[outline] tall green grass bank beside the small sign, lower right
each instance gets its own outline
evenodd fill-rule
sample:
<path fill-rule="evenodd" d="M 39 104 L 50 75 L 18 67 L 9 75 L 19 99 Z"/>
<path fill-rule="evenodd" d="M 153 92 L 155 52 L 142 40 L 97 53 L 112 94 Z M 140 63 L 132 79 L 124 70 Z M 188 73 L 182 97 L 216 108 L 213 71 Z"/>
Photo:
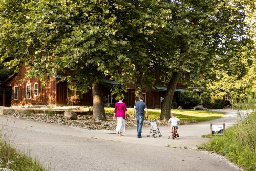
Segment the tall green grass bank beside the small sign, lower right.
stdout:
<path fill-rule="evenodd" d="M 256 169 L 256 112 L 226 130 L 225 136 L 214 136 L 199 149 L 216 151 L 245 170 Z"/>

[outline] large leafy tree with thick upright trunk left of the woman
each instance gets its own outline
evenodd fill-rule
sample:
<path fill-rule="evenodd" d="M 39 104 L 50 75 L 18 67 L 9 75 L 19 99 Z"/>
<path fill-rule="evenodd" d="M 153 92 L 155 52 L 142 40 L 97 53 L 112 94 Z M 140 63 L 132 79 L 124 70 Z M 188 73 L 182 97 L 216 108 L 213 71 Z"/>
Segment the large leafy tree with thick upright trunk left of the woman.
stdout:
<path fill-rule="evenodd" d="M 129 63 L 120 53 L 127 42 L 115 38 L 113 7 L 111 1 L 1 1 L 1 59 L 17 68 L 25 62 L 27 76 L 41 80 L 75 69 L 65 79 L 92 88 L 93 118 L 103 120 L 105 76 Z"/>

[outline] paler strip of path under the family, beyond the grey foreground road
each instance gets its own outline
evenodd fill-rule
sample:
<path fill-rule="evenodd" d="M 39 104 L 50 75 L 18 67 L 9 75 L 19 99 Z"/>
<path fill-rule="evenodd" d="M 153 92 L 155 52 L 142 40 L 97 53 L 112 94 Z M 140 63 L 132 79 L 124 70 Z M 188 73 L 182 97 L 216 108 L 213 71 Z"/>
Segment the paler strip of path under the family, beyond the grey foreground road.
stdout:
<path fill-rule="evenodd" d="M 187 147 L 192 149 L 197 149 L 197 145 L 206 142 L 207 138 L 202 138 L 202 135 L 210 133 L 210 123 L 214 124 L 222 124 L 225 123 L 226 127 L 230 127 L 233 124 L 237 123 L 238 114 L 235 110 L 215 110 L 215 111 L 222 111 L 225 112 L 222 118 L 211 120 L 207 122 L 200 122 L 197 124 L 190 124 L 190 125 L 181 125 L 179 126 L 179 140 L 169 140 L 168 137 L 170 135 L 170 127 L 169 126 L 159 126 L 159 130 L 162 134 L 162 138 L 147 138 L 147 134 L 150 130 L 150 127 L 143 127 L 142 130 L 142 139 L 137 139 L 136 137 L 136 127 L 126 129 L 126 132 L 123 134 L 123 137 L 118 137 L 115 135 L 115 130 L 84 130 L 75 128 L 76 130 L 80 130 L 84 132 L 88 137 L 94 137 L 98 139 L 106 139 L 106 140 L 115 140 L 127 143 L 134 143 L 134 144 L 148 144 L 154 146 L 166 146 L 170 144 L 172 146 L 179 147 Z M 247 111 L 242 111 L 242 117 Z"/>

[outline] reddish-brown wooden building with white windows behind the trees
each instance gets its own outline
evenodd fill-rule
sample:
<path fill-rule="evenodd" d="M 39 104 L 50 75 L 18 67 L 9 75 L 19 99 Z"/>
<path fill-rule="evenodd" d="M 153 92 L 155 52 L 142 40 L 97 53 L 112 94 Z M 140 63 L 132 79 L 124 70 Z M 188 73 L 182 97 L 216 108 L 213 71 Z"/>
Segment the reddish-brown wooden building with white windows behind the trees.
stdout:
<path fill-rule="evenodd" d="M 73 95 L 80 97 L 78 105 L 92 105 L 92 91 L 82 94 L 80 90 L 76 90 L 74 84 L 68 82 L 58 82 L 68 73 L 58 73 L 49 78 L 45 86 L 39 78 L 26 78 L 27 69 L 24 65 L 20 67 L 18 73 L 11 75 L 1 84 L 0 89 L 0 106 L 22 106 L 22 105 L 48 105 L 49 103 L 56 106 L 67 105 L 68 98 Z M 113 104 L 116 102 L 111 93 L 112 84 L 119 84 L 115 81 L 107 81 L 109 86 L 104 87 L 103 96 L 105 103 Z M 156 87 L 158 90 L 153 92 L 145 91 L 143 93 L 148 108 L 160 108 L 161 97 L 167 90 L 166 87 Z M 176 101 L 179 92 L 183 92 L 185 86 L 178 84 L 174 94 L 173 101 Z M 129 90 L 125 93 L 127 106 L 134 105 L 134 87 L 129 85 Z"/>

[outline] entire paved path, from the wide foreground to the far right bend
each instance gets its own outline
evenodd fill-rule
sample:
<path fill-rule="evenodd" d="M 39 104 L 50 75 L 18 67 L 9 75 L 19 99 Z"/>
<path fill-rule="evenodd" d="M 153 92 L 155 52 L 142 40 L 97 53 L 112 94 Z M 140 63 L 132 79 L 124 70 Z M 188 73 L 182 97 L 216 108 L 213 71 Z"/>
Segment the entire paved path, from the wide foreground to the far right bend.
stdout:
<path fill-rule="evenodd" d="M 213 123 L 235 123 L 236 112 Z M 168 140 L 169 128 L 160 127 L 162 138 L 137 139 L 134 129 L 118 137 L 111 130 L 83 130 L 0 116 L 0 127 L 17 148 L 53 170 L 237 170 L 237 168 L 195 149 L 205 142 L 209 123 L 180 126 L 180 140 Z M 177 148 L 164 147 L 167 143 Z"/>

